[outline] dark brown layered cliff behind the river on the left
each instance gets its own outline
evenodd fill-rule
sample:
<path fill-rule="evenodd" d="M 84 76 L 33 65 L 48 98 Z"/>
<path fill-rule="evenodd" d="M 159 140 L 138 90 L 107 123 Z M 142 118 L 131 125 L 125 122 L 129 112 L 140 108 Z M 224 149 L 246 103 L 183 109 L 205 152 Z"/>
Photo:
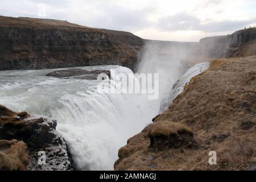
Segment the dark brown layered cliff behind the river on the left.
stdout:
<path fill-rule="evenodd" d="M 117 64 L 134 69 L 143 41 L 129 32 L 0 16 L 0 70 Z"/>

